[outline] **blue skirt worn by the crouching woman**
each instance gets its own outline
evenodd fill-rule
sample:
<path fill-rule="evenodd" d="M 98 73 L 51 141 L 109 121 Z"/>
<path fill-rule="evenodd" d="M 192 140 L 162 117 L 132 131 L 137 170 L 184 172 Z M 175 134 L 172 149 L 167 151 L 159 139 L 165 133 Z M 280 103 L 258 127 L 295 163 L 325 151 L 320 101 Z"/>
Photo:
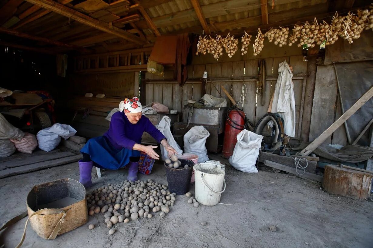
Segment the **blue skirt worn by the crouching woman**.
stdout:
<path fill-rule="evenodd" d="M 126 148 L 116 149 L 105 136 L 88 140 L 80 152 L 89 154 L 96 167 L 110 170 L 126 166 L 130 157 L 140 157 L 140 151 Z"/>

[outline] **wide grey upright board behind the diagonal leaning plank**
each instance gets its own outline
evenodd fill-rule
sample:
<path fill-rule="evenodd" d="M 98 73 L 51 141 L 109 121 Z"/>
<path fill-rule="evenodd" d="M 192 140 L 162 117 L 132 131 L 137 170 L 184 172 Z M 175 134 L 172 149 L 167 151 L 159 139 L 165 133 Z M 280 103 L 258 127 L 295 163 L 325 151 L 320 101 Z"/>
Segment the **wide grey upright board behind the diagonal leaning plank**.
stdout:
<path fill-rule="evenodd" d="M 317 66 L 309 141 L 316 139 L 333 124 L 336 95 L 337 82 L 333 66 Z M 330 144 L 330 137 L 324 143 Z"/>

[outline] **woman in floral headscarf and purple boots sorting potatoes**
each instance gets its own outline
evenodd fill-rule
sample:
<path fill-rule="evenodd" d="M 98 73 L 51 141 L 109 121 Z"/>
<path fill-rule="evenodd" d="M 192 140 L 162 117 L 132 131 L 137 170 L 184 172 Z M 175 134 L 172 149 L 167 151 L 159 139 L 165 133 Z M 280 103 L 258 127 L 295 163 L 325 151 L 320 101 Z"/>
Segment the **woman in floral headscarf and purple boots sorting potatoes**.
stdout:
<path fill-rule="evenodd" d="M 159 159 L 159 155 L 153 150 L 157 146 L 141 144 L 144 131 L 162 144 L 169 156 L 177 154 L 167 143 L 166 137 L 142 115 L 142 106 L 137 97 L 126 98 L 120 102 L 119 110 L 112 115 L 109 130 L 103 136 L 88 140 L 81 149 L 83 159 L 79 161 L 79 182 L 85 187 L 92 185 L 93 163 L 104 169 L 119 169 L 128 165 L 127 179 L 136 181 L 140 152 L 146 153 L 153 159 Z"/>

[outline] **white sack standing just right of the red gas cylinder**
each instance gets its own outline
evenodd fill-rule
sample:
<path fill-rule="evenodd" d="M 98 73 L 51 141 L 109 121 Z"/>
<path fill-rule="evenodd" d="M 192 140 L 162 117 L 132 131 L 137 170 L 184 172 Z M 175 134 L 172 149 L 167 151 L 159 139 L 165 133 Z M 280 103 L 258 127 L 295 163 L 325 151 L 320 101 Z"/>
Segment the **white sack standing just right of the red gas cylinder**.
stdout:
<path fill-rule="evenodd" d="M 263 136 L 250 132 L 246 129 L 237 134 L 237 143 L 229 163 L 239 171 L 258 172 L 255 167 L 259 156 L 259 149 Z"/>

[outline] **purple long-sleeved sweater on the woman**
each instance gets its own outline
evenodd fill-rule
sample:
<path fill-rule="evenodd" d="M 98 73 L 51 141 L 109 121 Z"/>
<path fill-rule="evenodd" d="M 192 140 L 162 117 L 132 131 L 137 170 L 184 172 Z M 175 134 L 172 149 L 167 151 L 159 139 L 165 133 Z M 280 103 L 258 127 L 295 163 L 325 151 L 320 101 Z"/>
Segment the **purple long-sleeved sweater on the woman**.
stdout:
<path fill-rule="evenodd" d="M 150 134 L 158 143 L 162 139 L 166 139 L 144 115 L 142 115 L 138 123 L 132 124 L 123 112 L 116 112 L 112 115 L 109 130 L 107 130 L 104 136 L 109 139 L 110 143 L 116 149 L 120 150 L 124 147 L 132 150 L 136 143 L 141 143 L 141 136 L 144 131 Z"/>

